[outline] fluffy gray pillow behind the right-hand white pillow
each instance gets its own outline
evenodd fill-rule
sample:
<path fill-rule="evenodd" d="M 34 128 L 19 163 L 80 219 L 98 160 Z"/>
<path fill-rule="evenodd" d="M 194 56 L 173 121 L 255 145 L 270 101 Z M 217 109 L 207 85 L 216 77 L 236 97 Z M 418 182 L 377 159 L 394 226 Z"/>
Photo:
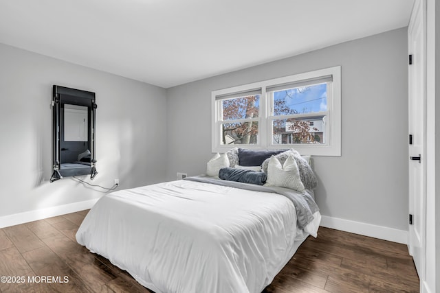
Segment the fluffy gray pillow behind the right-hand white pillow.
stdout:
<path fill-rule="evenodd" d="M 299 152 L 296 150 L 287 150 L 281 154 L 277 154 L 275 157 L 278 159 L 278 161 L 280 161 L 281 165 L 283 165 L 289 154 L 294 155 L 294 159 L 300 172 L 301 182 L 303 183 L 305 189 L 315 189 L 318 186 L 318 180 L 316 179 L 314 171 L 311 169 L 309 163 L 303 159 Z M 263 172 L 267 172 L 268 164 L 269 159 L 266 159 L 261 165 Z"/>

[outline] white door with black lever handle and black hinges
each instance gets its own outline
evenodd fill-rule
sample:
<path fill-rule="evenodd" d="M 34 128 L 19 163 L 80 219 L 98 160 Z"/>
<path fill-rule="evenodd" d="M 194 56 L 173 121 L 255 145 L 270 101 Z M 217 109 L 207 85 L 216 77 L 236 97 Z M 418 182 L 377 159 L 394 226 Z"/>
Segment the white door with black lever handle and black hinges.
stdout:
<path fill-rule="evenodd" d="M 415 1 L 408 26 L 409 252 L 423 279 L 426 239 L 426 3 Z"/>

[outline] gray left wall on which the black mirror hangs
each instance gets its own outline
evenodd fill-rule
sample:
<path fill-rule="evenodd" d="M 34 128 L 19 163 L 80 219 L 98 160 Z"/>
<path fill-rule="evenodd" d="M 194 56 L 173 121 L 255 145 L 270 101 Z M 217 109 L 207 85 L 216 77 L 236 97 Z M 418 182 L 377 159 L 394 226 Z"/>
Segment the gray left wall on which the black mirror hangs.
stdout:
<path fill-rule="evenodd" d="M 52 84 L 96 93 L 98 176 L 120 188 L 164 180 L 166 91 L 0 44 L 0 216 L 102 196 L 52 175 Z"/>

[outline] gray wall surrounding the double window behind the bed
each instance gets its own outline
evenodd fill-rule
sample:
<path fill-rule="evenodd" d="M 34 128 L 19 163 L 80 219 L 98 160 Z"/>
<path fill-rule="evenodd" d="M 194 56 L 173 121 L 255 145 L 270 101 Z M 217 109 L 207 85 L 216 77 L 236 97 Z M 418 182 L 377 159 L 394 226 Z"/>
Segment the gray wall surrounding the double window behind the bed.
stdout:
<path fill-rule="evenodd" d="M 322 215 L 408 230 L 406 27 L 167 89 L 167 178 L 202 174 L 211 91 L 342 66 L 342 156 L 314 157 Z"/>

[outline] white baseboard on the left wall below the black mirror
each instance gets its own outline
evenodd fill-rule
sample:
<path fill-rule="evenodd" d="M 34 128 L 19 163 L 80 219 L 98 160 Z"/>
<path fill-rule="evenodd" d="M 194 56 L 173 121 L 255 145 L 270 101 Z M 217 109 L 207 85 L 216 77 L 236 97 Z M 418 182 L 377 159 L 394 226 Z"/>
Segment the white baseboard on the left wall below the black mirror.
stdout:
<path fill-rule="evenodd" d="M 94 200 L 86 200 L 83 202 L 74 202 L 72 204 L 63 204 L 56 207 L 37 209 L 35 211 L 25 211 L 24 213 L 14 213 L 13 215 L 3 215 L 2 217 L 0 217 L 0 228 L 90 209 L 94 206 L 94 204 L 96 204 L 98 199 L 99 198 L 96 198 Z"/>

